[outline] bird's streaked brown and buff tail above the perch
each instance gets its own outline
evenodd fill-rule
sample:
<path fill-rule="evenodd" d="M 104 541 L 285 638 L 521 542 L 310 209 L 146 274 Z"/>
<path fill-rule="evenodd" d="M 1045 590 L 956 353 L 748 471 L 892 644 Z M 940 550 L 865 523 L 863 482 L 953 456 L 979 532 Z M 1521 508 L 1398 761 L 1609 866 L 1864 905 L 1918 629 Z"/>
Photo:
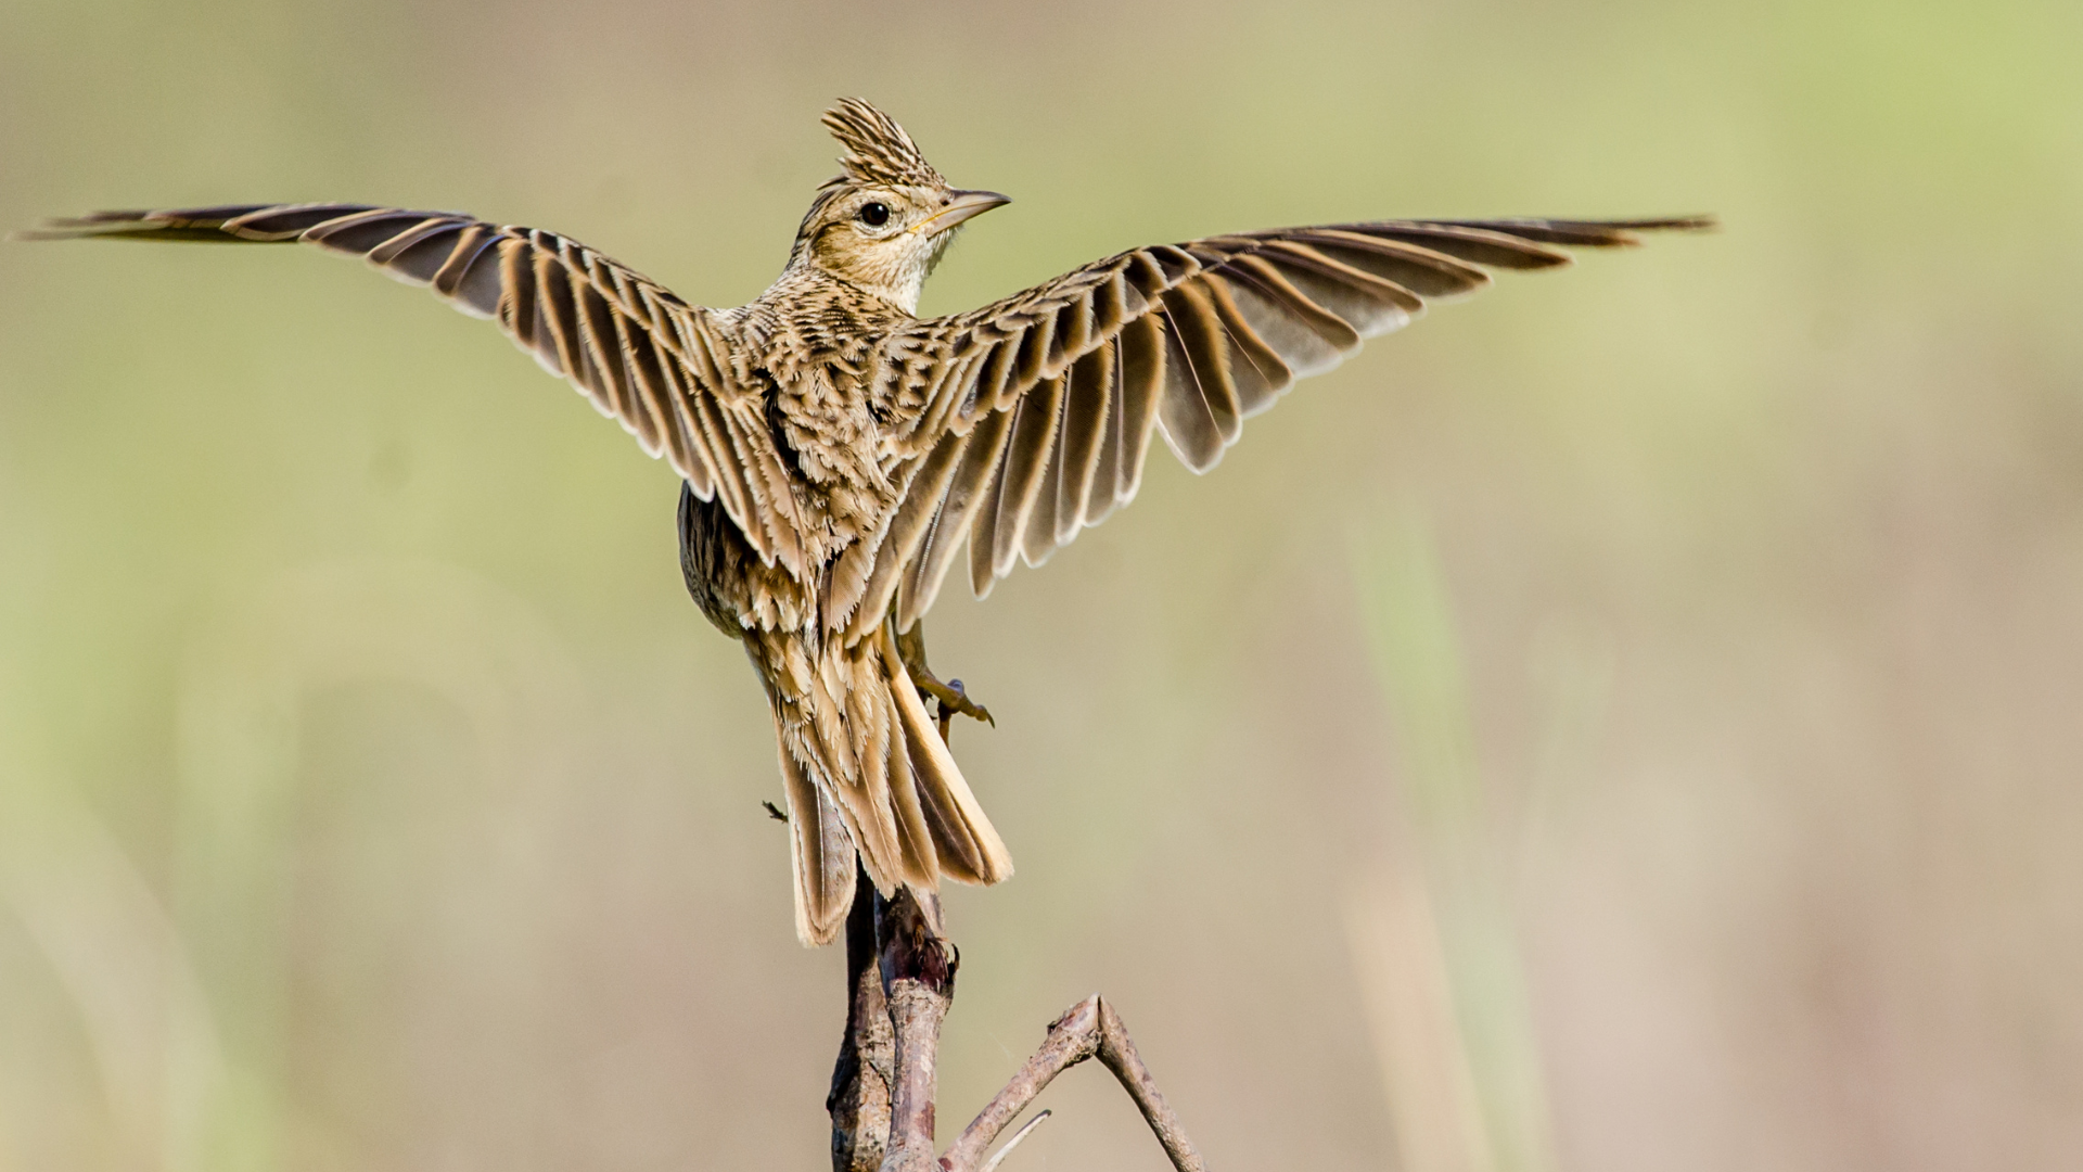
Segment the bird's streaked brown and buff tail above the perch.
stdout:
<path fill-rule="evenodd" d="M 889 628 L 810 653 L 758 642 L 789 805 L 796 934 L 827 945 L 854 901 L 854 857 L 877 890 L 942 878 L 994 884 L 1012 857 L 927 717 Z"/>

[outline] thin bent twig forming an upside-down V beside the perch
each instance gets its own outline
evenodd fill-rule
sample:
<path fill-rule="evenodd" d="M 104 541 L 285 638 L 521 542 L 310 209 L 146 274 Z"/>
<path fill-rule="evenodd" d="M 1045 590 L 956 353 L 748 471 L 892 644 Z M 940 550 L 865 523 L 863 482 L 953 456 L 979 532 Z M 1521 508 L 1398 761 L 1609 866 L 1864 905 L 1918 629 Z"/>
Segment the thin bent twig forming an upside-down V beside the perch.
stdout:
<path fill-rule="evenodd" d="M 1006 1124 L 1017 1120 L 1050 1080 L 1087 1057 L 1098 1057 L 1114 1072 L 1121 1086 L 1135 1099 L 1137 1109 L 1144 1112 L 1144 1122 L 1150 1124 L 1158 1143 L 1164 1145 L 1164 1155 L 1171 1157 L 1173 1168 L 1179 1172 L 1206 1172 L 1208 1166 L 1202 1162 L 1194 1141 L 1185 1137 L 1185 1128 L 1179 1126 L 1179 1116 L 1173 1114 L 1164 1095 L 1158 1093 L 1144 1059 L 1137 1057 L 1135 1043 L 1129 1039 L 1127 1026 L 1121 1024 L 1121 1016 L 1098 993 L 1071 1005 L 1062 1018 L 1050 1022 L 1042 1049 L 962 1128 L 962 1137 L 942 1157 L 942 1168 L 948 1172 L 979 1172 L 985 1168 L 983 1151 L 998 1139 L 998 1132 L 1006 1130 Z M 1019 1137 L 1014 1137 L 1017 1141 Z"/>

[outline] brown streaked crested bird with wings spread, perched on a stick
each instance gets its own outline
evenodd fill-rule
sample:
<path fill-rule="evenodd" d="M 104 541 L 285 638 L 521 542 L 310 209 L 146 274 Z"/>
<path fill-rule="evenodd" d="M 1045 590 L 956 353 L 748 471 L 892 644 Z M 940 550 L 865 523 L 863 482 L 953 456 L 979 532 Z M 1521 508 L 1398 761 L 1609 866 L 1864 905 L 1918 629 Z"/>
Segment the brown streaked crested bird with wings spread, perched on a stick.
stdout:
<path fill-rule="evenodd" d="M 1389 219 L 1131 248 L 981 309 L 919 317 L 971 219 L 860 98 L 775 284 L 692 304 L 554 231 L 381 204 L 227 204 L 46 221 L 35 240 L 310 244 L 496 321 L 681 478 L 687 592 L 737 638 L 779 749 L 796 934 L 831 943 L 858 874 L 889 897 L 1012 874 L 946 742 L 989 719 L 925 663 L 923 615 L 962 563 L 977 596 L 1135 498 L 1152 438 L 1206 473 L 1252 415 L 1364 338 L 1494 269 L 1635 244 L 1666 219 Z M 967 548 L 967 557 L 962 551 Z M 929 715 L 927 701 L 939 707 Z M 856 863 L 858 859 L 858 863 Z"/>

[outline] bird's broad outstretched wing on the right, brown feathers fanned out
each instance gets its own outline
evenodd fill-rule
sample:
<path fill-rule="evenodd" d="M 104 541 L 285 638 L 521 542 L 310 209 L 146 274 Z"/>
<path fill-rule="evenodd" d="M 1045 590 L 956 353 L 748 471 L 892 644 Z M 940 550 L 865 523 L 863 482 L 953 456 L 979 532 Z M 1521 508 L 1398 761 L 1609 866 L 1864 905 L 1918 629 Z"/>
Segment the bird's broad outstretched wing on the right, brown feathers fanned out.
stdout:
<path fill-rule="evenodd" d="M 989 592 L 1135 498 L 1150 434 L 1194 471 L 1294 380 L 1485 269 L 1566 265 L 1558 246 L 1633 244 L 1706 219 L 1383 221 L 1210 236 L 1108 257 L 973 313 L 887 340 L 887 402 L 919 457 L 856 624 L 896 607 L 908 630 L 969 540 Z"/>

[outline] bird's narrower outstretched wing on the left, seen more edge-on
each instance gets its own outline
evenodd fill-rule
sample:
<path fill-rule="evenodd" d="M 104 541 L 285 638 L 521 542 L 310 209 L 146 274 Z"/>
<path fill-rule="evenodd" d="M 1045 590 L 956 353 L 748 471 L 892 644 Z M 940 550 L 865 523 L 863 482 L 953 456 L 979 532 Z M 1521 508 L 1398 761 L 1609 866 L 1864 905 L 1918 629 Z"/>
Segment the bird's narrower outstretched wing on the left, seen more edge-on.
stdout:
<path fill-rule="evenodd" d="M 50 221 L 27 236 L 317 244 L 362 257 L 471 317 L 498 321 L 646 453 L 669 459 L 702 500 L 721 494 L 760 557 L 771 561 L 777 544 L 787 544 L 762 507 L 769 486 L 758 482 L 760 457 L 748 444 L 756 434 L 748 428 L 764 423 L 731 377 L 714 315 L 575 240 L 460 213 L 367 204 L 112 211 Z"/>

